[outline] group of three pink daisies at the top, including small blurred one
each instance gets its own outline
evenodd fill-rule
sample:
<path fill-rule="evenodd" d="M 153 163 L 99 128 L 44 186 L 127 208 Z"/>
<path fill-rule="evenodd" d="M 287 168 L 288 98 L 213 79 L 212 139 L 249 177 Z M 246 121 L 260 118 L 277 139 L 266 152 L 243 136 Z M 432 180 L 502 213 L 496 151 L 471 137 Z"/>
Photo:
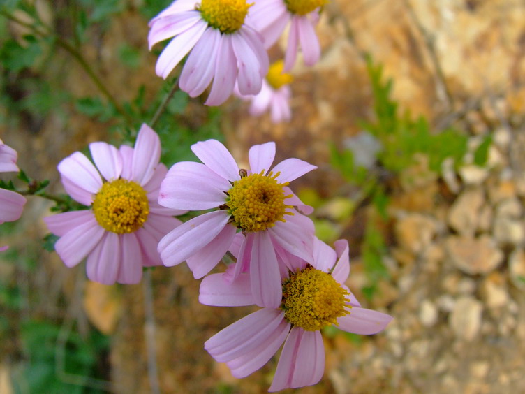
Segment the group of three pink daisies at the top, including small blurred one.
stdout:
<path fill-rule="evenodd" d="M 149 48 L 172 38 L 156 64 L 167 78 L 186 54 L 179 87 L 190 96 L 212 83 L 207 105 L 235 94 L 251 101 L 251 115 L 270 110 L 272 121 L 291 117 L 288 73 L 302 50 L 304 64 L 320 57 L 314 24 L 327 0 L 177 0 L 151 20 Z M 269 66 L 267 49 L 290 24 L 284 60 Z M 213 80 L 213 82 L 212 82 Z"/>

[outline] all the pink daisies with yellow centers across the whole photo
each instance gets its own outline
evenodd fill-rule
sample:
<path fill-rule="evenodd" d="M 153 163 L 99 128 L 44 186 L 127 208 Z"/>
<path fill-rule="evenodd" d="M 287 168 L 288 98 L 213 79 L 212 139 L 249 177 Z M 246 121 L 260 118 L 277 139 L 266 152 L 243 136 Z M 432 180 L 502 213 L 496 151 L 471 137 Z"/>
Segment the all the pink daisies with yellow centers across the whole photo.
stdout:
<path fill-rule="evenodd" d="M 253 100 L 257 110 L 258 103 L 273 100 L 274 116 L 286 115 L 289 108 L 278 102 L 289 92 L 276 99 L 279 95 L 268 89 L 293 66 L 298 45 L 306 64 L 317 61 L 313 22 L 324 2 L 177 0 L 151 21 L 150 45 L 174 37 L 156 71 L 166 78 L 189 53 L 179 86 L 190 96 L 212 83 L 209 105 L 223 103 L 237 90 L 259 94 Z M 269 67 L 266 48 L 289 20 L 286 57 Z M 265 85 L 265 76 L 273 88 Z M 316 384 L 324 371 L 323 328 L 336 325 L 371 335 L 392 319 L 360 306 L 345 284 L 348 242 L 339 240 L 332 249 L 318 240 L 306 217 L 313 208 L 288 187 L 316 166 L 300 159 L 273 166 L 272 142 L 249 149 L 246 169 L 217 140 L 191 149 L 201 163 L 179 162 L 168 170 L 159 162 L 158 135 L 143 124 L 134 147 L 96 142 L 89 145 L 92 161 L 81 152 L 63 159 L 58 170 L 64 189 L 88 209 L 45 218 L 59 237 L 57 254 L 68 267 L 86 259 L 87 277 L 102 284 L 135 284 L 145 267 L 186 261 L 195 279 L 203 278 L 202 304 L 261 308 L 205 342 L 213 358 L 235 377 L 246 377 L 284 344 L 269 391 Z M 0 141 L 0 171 L 17 171 L 16 159 Z M 0 192 L 0 221 L 18 219 L 25 198 Z M 188 211 L 206 213 L 184 223 L 175 218 Z M 235 261 L 209 275 L 225 254 Z"/>

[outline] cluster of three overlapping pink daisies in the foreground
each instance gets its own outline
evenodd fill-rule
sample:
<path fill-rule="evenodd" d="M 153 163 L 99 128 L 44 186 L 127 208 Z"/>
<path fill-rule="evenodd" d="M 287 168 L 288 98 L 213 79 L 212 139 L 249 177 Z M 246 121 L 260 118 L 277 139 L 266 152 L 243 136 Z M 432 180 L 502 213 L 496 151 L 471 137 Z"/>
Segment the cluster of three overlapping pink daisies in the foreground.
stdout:
<path fill-rule="evenodd" d="M 249 169 L 237 166 L 217 140 L 191 147 L 202 163 L 159 163 L 157 134 L 142 125 L 135 147 L 91 143 L 94 164 L 80 152 L 59 163 L 64 188 L 89 210 L 46 217 L 55 249 L 72 267 L 87 258 L 87 276 L 103 284 L 137 283 L 142 267 L 183 261 L 205 305 L 262 309 L 225 328 L 205 349 L 246 377 L 284 342 L 270 391 L 316 384 L 323 376 L 320 330 L 374 334 L 392 319 L 360 307 L 345 285 L 348 242 L 335 250 L 318 240 L 289 182 L 315 169 L 300 159 L 272 167 L 275 144 L 254 145 Z M 211 210 L 182 223 L 173 216 Z M 208 275 L 226 253 L 223 273 Z"/>

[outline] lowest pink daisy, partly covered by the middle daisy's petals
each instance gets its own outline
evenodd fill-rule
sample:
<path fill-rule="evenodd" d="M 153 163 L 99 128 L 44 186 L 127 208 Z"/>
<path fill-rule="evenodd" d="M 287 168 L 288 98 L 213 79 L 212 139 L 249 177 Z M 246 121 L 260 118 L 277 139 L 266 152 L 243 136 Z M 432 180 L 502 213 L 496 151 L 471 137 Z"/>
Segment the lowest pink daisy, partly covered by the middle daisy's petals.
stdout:
<path fill-rule="evenodd" d="M 321 330 L 332 324 L 360 335 L 376 334 L 392 316 L 360 306 L 344 284 L 350 274 L 348 242 L 335 251 L 317 238 L 313 263 L 283 256 L 283 297 L 224 328 L 205 342 L 205 349 L 226 363 L 237 378 L 263 367 L 284 343 L 269 391 L 318 383 L 325 370 Z M 248 285 L 251 272 L 230 284 L 223 274 L 202 279 L 199 300 L 205 305 L 253 305 Z"/>

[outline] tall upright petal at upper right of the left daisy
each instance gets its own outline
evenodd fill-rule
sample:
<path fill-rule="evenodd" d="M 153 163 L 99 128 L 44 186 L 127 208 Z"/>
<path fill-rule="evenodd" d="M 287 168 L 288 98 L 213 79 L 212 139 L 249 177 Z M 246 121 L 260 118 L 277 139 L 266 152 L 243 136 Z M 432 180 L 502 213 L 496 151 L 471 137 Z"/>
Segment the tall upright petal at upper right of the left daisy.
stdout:
<path fill-rule="evenodd" d="M 140 126 L 133 161 L 131 162 L 131 180 L 138 184 L 147 184 L 161 159 L 161 139 L 147 124 Z"/>

